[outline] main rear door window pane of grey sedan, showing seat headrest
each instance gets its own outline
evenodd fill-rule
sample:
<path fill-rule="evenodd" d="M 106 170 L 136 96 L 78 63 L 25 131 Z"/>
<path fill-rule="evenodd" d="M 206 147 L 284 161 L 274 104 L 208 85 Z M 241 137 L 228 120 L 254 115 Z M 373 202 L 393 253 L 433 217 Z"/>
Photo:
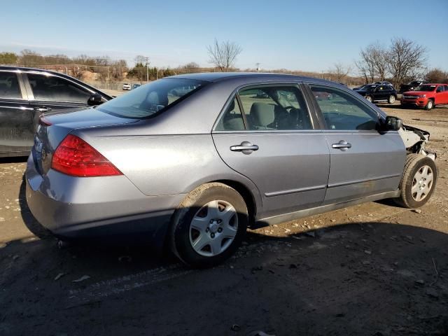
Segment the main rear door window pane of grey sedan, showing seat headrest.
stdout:
<path fill-rule="evenodd" d="M 239 91 L 248 130 L 312 130 L 302 92 L 295 86 L 263 86 Z"/>

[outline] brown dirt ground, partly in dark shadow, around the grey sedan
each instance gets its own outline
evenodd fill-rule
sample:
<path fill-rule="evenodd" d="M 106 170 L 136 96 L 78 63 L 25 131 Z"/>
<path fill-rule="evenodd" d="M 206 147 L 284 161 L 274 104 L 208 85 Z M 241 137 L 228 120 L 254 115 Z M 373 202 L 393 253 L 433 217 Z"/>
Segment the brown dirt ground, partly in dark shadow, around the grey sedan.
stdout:
<path fill-rule="evenodd" d="M 379 106 L 431 132 L 439 179 L 421 211 L 370 202 L 251 230 L 213 269 L 146 246 L 57 248 L 27 210 L 25 162 L 2 160 L 0 335 L 448 335 L 448 109 Z"/>

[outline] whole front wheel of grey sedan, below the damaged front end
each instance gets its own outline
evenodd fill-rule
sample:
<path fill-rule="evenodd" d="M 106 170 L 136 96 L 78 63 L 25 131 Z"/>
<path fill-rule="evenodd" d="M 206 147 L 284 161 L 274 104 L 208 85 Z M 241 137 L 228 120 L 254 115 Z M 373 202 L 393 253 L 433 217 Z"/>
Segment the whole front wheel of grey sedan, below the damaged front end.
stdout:
<path fill-rule="evenodd" d="M 434 160 L 420 154 L 409 154 L 400 181 L 401 195 L 395 201 L 403 207 L 419 208 L 433 195 L 436 181 Z"/>

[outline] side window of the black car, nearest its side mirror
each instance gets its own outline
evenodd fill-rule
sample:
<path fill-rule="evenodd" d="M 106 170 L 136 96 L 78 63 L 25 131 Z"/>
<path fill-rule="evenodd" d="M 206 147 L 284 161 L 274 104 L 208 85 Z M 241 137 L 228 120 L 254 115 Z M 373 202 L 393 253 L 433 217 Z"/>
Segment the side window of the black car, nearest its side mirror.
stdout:
<path fill-rule="evenodd" d="M 27 76 L 36 100 L 86 104 L 87 99 L 92 94 L 90 91 L 64 78 L 36 73 L 28 73 Z"/>

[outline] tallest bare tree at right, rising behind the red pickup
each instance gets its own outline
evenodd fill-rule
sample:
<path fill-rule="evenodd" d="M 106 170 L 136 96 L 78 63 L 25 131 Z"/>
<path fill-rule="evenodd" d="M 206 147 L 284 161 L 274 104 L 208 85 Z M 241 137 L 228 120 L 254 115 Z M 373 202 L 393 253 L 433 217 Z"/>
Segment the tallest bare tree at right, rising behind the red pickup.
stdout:
<path fill-rule="evenodd" d="M 395 86 L 414 76 L 420 76 L 426 63 L 426 52 L 426 48 L 414 41 L 405 38 L 392 39 L 387 65 Z"/>

